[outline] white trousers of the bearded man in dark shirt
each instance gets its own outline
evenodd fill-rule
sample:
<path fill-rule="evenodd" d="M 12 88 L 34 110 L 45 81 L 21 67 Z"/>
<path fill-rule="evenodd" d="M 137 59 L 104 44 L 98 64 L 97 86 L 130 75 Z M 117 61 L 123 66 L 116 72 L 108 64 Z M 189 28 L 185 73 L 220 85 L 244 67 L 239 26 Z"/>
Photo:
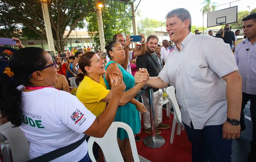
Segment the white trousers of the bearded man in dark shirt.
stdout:
<path fill-rule="evenodd" d="M 163 91 L 159 89 L 153 93 L 154 95 L 154 106 L 155 106 L 155 125 L 156 127 L 162 122 L 161 109 L 163 107 Z M 146 94 L 141 95 L 143 104 L 147 111 L 143 114 L 144 129 L 150 128 L 150 114 L 149 114 L 149 102 Z"/>

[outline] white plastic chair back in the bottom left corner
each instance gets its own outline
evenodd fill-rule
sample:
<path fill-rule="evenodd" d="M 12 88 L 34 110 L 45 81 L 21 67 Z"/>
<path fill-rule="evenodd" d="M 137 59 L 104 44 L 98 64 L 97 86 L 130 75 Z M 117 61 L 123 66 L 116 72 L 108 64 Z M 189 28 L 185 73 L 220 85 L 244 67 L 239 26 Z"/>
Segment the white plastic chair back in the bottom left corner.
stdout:
<path fill-rule="evenodd" d="M 20 127 L 14 127 L 11 122 L 0 126 L 0 133 L 3 134 L 11 147 L 14 162 L 29 160 L 29 143 Z"/>

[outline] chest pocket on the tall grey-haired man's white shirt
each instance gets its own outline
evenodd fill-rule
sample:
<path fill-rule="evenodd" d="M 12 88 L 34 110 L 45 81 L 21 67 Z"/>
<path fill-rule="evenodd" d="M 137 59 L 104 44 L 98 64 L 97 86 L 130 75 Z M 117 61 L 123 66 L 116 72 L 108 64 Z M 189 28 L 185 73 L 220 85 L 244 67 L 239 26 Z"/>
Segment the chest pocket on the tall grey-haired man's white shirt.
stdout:
<path fill-rule="evenodd" d="M 186 62 L 185 66 L 186 74 L 188 79 L 197 79 L 199 77 L 199 67 L 198 67 L 198 60 L 189 60 Z"/>

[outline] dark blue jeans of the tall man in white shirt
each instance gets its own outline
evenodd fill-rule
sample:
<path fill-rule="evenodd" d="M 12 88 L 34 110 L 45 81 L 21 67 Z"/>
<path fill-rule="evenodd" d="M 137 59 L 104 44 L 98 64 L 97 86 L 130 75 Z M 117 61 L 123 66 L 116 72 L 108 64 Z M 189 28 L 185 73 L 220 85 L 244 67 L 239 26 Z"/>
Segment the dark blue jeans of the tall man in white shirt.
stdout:
<path fill-rule="evenodd" d="M 192 162 L 231 162 L 232 140 L 222 138 L 221 125 L 205 126 L 202 130 L 184 124 L 192 143 Z"/>

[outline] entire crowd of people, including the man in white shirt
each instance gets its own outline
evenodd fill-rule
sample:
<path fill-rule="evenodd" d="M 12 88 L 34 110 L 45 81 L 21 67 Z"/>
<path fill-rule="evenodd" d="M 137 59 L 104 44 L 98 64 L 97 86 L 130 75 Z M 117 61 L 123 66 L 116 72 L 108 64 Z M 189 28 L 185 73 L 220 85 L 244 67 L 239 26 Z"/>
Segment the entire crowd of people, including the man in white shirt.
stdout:
<path fill-rule="evenodd" d="M 75 47 L 56 58 L 38 47 L 24 48 L 14 38 L 19 50 L 0 47 L 1 123 L 20 126 L 30 142 L 31 159 L 84 139 L 53 161 L 88 162 L 84 134 L 103 137 L 113 121 L 128 124 L 137 140 L 142 127 L 151 133 L 148 93 L 141 95 L 143 104 L 134 99 L 141 88 L 153 88 L 156 134 L 170 128 L 161 116 L 162 88 L 172 85 L 195 162 L 231 162 L 232 140 L 246 128 L 243 109 L 251 100 L 248 160 L 254 161 L 256 14 L 243 19 L 246 39 L 240 43 L 236 36 L 241 31 L 233 33 L 229 25 L 216 36 L 212 31 L 210 36 L 198 30 L 193 34 L 190 13 L 183 8 L 166 15 L 166 30 L 170 41 L 163 40 L 162 46 L 157 36 L 140 33 L 140 44 L 133 49 L 129 35 L 116 33 L 106 52 Z M 70 77 L 76 77 L 77 88 L 71 87 Z M 132 162 L 126 131 L 118 129 L 117 137 L 124 160 Z M 100 160 L 102 151 L 95 147 Z"/>

